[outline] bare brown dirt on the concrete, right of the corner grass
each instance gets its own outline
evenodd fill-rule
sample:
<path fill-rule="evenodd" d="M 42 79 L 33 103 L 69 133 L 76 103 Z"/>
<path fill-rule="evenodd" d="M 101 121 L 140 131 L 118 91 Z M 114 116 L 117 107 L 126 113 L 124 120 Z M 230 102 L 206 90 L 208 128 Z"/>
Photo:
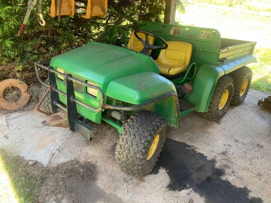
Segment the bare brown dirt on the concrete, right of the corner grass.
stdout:
<path fill-rule="evenodd" d="M 123 203 L 97 185 L 97 169 L 90 162 L 70 161 L 50 169 L 39 192 L 39 201 L 48 203 Z"/>

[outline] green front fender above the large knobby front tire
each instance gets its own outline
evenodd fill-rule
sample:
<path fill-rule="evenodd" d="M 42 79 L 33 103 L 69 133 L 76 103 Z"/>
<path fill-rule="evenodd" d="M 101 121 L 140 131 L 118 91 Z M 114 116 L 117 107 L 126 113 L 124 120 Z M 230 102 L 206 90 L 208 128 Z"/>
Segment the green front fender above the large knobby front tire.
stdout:
<path fill-rule="evenodd" d="M 133 106 L 173 93 L 177 95 L 174 84 L 155 72 L 141 72 L 110 81 L 106 96 L 126 102 Z M 151 110 L 166 119 L 170 126 L 178 128 L 181 123 L 179 103 L 173 96 L 145 105 L 138 110 Z M 135 111 L 127 112 L 132 115 Z"/>

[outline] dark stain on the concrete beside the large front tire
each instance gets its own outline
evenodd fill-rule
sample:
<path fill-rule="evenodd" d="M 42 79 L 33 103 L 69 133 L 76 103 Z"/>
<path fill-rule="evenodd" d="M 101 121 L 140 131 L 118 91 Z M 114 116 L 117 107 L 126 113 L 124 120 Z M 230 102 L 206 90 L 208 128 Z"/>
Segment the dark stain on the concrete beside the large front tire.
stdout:
<path fill-rule="evenodd" d="M 206 202 L 263 203 L 261 198 L 250 198 L 251 191 L 246 187 L 238 188 L 222 180 L 225 172 L 217 169 L 215 163 L 215 160 L 208 160 L 193 146 L 168 139 L 151 174 L 157 174 L 161 168 L 166 169 L 170 178 L 169 190 L 192 188 Z"/>

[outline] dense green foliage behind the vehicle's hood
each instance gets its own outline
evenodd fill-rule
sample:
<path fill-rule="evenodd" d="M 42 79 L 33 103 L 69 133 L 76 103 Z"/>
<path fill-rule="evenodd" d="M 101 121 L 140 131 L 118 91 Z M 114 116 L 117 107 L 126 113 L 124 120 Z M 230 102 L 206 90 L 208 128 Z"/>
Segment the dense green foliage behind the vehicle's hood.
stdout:
<path fill-rule="evenodd" d="M 86 0 L 76 1 L 74 17 L 51 18 L 47 12 L 50 0 L 43 0 L 45 26 L 38 23 L 37 8 L 30 15 L 23 37 L 17 36 L 23 23 L 27 0 L 1 0 L 0 4 L 0 68 L 14 66 L 14 73 L 3 75 L 20 76 L 25 81 L 33 79 L 23 76 L 33 71 L 34 61 L 48 60 L 88 41 L 126 46 L 132 32 L 144 21 L 161 22 L 165 1 L 158 0 L 110 0 L 106 18 L 82 19 L 80 7 L 86 7 Z M 79 7 L 80 5 L 80 7 Z M 83 5 L 83 6 L 82 6 Z"/>

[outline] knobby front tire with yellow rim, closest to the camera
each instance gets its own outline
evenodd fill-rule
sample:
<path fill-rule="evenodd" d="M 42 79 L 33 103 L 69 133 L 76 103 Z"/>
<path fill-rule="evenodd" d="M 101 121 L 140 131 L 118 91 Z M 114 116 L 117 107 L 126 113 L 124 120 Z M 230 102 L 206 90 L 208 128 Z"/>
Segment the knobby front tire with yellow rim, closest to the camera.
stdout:
<path fill-rule="evenodd" d="M 155 166 L 166 140 L 167 122 L 152 111 L 138 111 L 125 124 L 116 145 L 118 166 L 134 176 L 145 176 Z"/>

